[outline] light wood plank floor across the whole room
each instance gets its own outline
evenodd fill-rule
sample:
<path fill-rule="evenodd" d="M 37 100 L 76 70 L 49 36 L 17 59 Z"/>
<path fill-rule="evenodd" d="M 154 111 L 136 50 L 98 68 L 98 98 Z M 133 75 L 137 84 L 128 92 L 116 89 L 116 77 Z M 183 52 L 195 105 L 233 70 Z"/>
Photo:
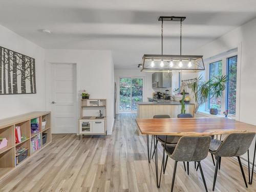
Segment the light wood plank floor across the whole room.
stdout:
<path fill-rule="evenodd" d="M 159 161 L 161 157 L 159 146 Z M 256 191 L 256 180 L 245 188 L 238 162 L 223 158 L 221 163 L 215 191 Z M 201 164 L 211 191 L 210 156 Z M 123 114 L 117 116 L 111 136 L 79 140 L 76 135 L 53 135 L 49 146 L 0 182 L 0 191 L 169 191 L 173 166 L 169 159 L 158 189 L 154 161 L 147 162 L 146 138 L 136 133 L 135 115 Z M 183 164 L 178 164 L 174 191 L 205 191 L 194 162 L 189 170 L 188 176 Z"/>

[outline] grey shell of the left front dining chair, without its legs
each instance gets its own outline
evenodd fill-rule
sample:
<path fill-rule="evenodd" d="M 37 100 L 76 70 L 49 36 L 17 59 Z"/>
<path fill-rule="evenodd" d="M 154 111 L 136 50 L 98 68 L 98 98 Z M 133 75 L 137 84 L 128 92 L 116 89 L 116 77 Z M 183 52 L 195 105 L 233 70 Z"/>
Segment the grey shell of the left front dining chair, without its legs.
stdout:
<path fill-rule="evenodd" d="M 210 136 L 182 136 L 170 158 L 175 161 L 201 161 L 208 155 Z"/>

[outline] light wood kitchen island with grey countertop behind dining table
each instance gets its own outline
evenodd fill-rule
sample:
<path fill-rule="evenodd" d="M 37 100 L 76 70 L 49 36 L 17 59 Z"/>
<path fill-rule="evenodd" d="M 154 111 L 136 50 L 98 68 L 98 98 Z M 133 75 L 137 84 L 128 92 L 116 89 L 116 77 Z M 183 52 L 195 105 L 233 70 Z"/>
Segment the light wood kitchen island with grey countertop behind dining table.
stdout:
<path fill-rule="evenodd" d="M 192 115 L 194 112 L 194 103 L 185 103 L 186 113 Z M 154 115 L 169 115 L 171 118 L 177 118 L 181 112 L 181 103 L 170 100 L 154 100 L 153 102 L 137 102 L 137 118 L 150 119 Z"/>

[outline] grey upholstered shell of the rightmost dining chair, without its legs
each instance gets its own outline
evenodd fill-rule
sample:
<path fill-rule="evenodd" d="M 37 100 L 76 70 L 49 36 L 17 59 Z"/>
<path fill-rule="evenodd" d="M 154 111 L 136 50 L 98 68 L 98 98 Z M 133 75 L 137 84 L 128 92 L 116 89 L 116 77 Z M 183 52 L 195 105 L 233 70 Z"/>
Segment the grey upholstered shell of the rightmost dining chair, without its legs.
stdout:
<path fill-rule="evenodd" d="M 245 154 L 255 136 L 255 133 L 232 133 L 229 134 L 214 152 L 220 157 L 235 157 Z"/>

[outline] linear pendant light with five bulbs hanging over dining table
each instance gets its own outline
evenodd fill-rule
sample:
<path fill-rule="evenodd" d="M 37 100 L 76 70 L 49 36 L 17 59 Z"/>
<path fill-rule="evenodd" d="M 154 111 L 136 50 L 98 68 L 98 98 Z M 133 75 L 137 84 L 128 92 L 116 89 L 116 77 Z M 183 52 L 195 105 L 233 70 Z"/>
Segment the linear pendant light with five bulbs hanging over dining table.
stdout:
<path fill-rule="evenodd" d="M 176 16 L 160 16 L 161 39 L 162 39 L 162 54 L 144 54 L 142 57 L 143 72 L 199 72 L 205 70 L 202 55 L 182 55 L 181 40 L 182 40 L 182 22 L 186 17 Z M 180 55 L 164 55 L 163 54 L 163 22 L 180 22 Z M 164 65 L 164 62 L 169 65 Z"/>

